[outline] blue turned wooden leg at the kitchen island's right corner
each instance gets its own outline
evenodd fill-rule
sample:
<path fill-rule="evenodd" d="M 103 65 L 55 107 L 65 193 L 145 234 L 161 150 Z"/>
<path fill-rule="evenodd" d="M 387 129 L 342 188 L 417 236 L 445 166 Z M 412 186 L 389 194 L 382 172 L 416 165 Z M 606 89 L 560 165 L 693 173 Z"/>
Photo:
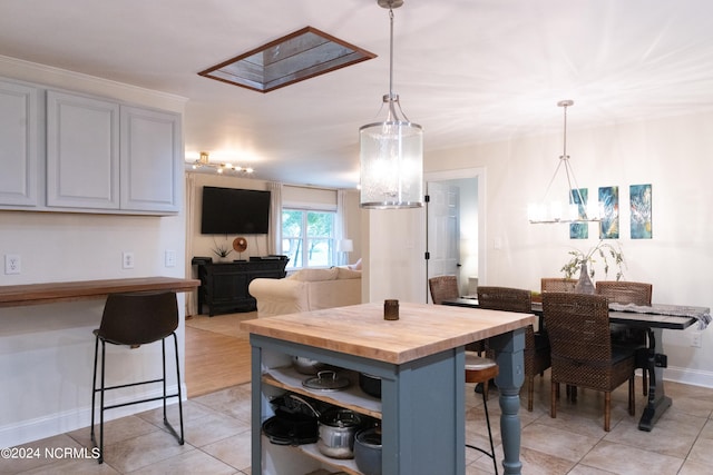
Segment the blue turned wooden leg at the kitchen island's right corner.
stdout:
<path fill-rule="evenodd" d="M 500 393 L 500 435 L 506 475 L 522 472 L 520 462 L 520 387 L 525 382 L 525 328 L 490 338 L 490 347 L 496 350 L 499 374 L 495 382 Z"/>

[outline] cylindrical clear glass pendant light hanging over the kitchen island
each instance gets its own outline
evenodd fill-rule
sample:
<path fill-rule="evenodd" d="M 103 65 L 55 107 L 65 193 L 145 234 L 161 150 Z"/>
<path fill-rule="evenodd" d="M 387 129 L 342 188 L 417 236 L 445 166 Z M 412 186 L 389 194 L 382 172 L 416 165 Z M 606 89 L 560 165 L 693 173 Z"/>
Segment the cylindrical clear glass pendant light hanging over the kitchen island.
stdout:
<path fill-rule="evenodd" d="M 360 205 L 375 209 L 419 208 L 423 206 L 423 130 L 406 117 L 399 96 L 393 93 L 393 9 L 401 7 L 403 0 L 377 3 L 389 9 L 389 93 L 383 96 L 385 120 L 359 129 Z"/>

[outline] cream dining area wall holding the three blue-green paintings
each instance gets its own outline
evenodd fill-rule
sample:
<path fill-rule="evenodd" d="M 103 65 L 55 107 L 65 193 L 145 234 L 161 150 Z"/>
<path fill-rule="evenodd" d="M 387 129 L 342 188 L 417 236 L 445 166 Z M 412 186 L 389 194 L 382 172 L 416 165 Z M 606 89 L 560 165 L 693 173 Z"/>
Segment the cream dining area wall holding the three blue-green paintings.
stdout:
<path fill-rule="evenodd" d="M 568 130 L 568 152 L 579 187 L 619 187 L 621 239 L 627 280 L 653 284 L 653 300 L 662 304 L 713 306 L 713 112 Z M 426 171 L 487 169 L 487 281 L 539 289 L 540 277 L 561 276 L 572 248 L 586 250 L 598 241 L 570 240 L 564 225 L 530 225 L 528 201 L 541 199 L 558 157 L 561 133 L 431 152 Z M 629 185 L 652 184 L 653 239 L 629 238 Z M 565 198 L 566 199 L 566 191 Z M 383 222 L 383 226 L 390 226 Z M 398 232 L 395 224 L 382 230 Z M 500 243 L 501 248 L 495 249 Z M 373 246 L 373 244 L 372 244 Z M 398 264 L 398 263 L 397 263 Z M 389 269 L 389 263 L 381 263 Z M 389 278 L 403 278 L 399 268 Z M 420 286 L 420 284 L 419 284 Z M 713 329 L 702 334 L 702 347 L 690 346 L 694 328 L 665 330 L 666 378 L 713 387 Z"/>

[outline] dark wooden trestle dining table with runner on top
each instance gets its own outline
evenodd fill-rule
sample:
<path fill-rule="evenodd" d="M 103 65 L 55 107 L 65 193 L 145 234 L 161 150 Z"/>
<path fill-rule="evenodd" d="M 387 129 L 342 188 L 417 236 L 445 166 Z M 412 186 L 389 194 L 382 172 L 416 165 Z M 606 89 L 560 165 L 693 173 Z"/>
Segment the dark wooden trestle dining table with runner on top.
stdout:
<path fill-rule="evenodd" d="M 478 308 L 477 297 L 446 299 L 443 305 Z M 545 328 L 543 304 L 533 301 L 533 314 L 539 317 L 539 328 Z M 609 304 L 609 323 L 643 328 L 647 335 L 648 398 L 638 422 L 639 431 L 651 432 L 656 422 L 672 405 L 666 396 L 663 370 L 667 366 L 667 356 L 663 348 L 663 330 L 685 330 L 697 325 L 705 329 L 711 323 L 711 309 L 687 305 L 653 304 L 637 306 L 633 304 Z"/>

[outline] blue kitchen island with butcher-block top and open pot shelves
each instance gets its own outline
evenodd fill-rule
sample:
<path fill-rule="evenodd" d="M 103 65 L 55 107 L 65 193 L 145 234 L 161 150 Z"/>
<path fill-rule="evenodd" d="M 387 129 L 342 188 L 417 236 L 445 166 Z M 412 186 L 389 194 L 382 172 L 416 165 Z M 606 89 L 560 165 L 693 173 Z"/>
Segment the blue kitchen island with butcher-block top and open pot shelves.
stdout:
<path fill-rule="evenodd" d="M 271 444 L 262 423 L 285 392 L 381 419 L 382 473 L 465 474 L 465 345 L 490 339 L 500 374 L 500 428 L 506 474 L 519 474 L 519 388 L 525 327 L 534 315 L 402 303 L 385 320 L 382 304 L 362 304 L 244 321 L 252 346 L 252 473 L 306 474 L 319 468 L 359 474 L 353 461 L 320 457 L 307 447 Z M 381 400 L 306 389 L 291 379 L 294 356 L 381 378 Z M 475 396 L 473 396 L 475 397 Z"/>

